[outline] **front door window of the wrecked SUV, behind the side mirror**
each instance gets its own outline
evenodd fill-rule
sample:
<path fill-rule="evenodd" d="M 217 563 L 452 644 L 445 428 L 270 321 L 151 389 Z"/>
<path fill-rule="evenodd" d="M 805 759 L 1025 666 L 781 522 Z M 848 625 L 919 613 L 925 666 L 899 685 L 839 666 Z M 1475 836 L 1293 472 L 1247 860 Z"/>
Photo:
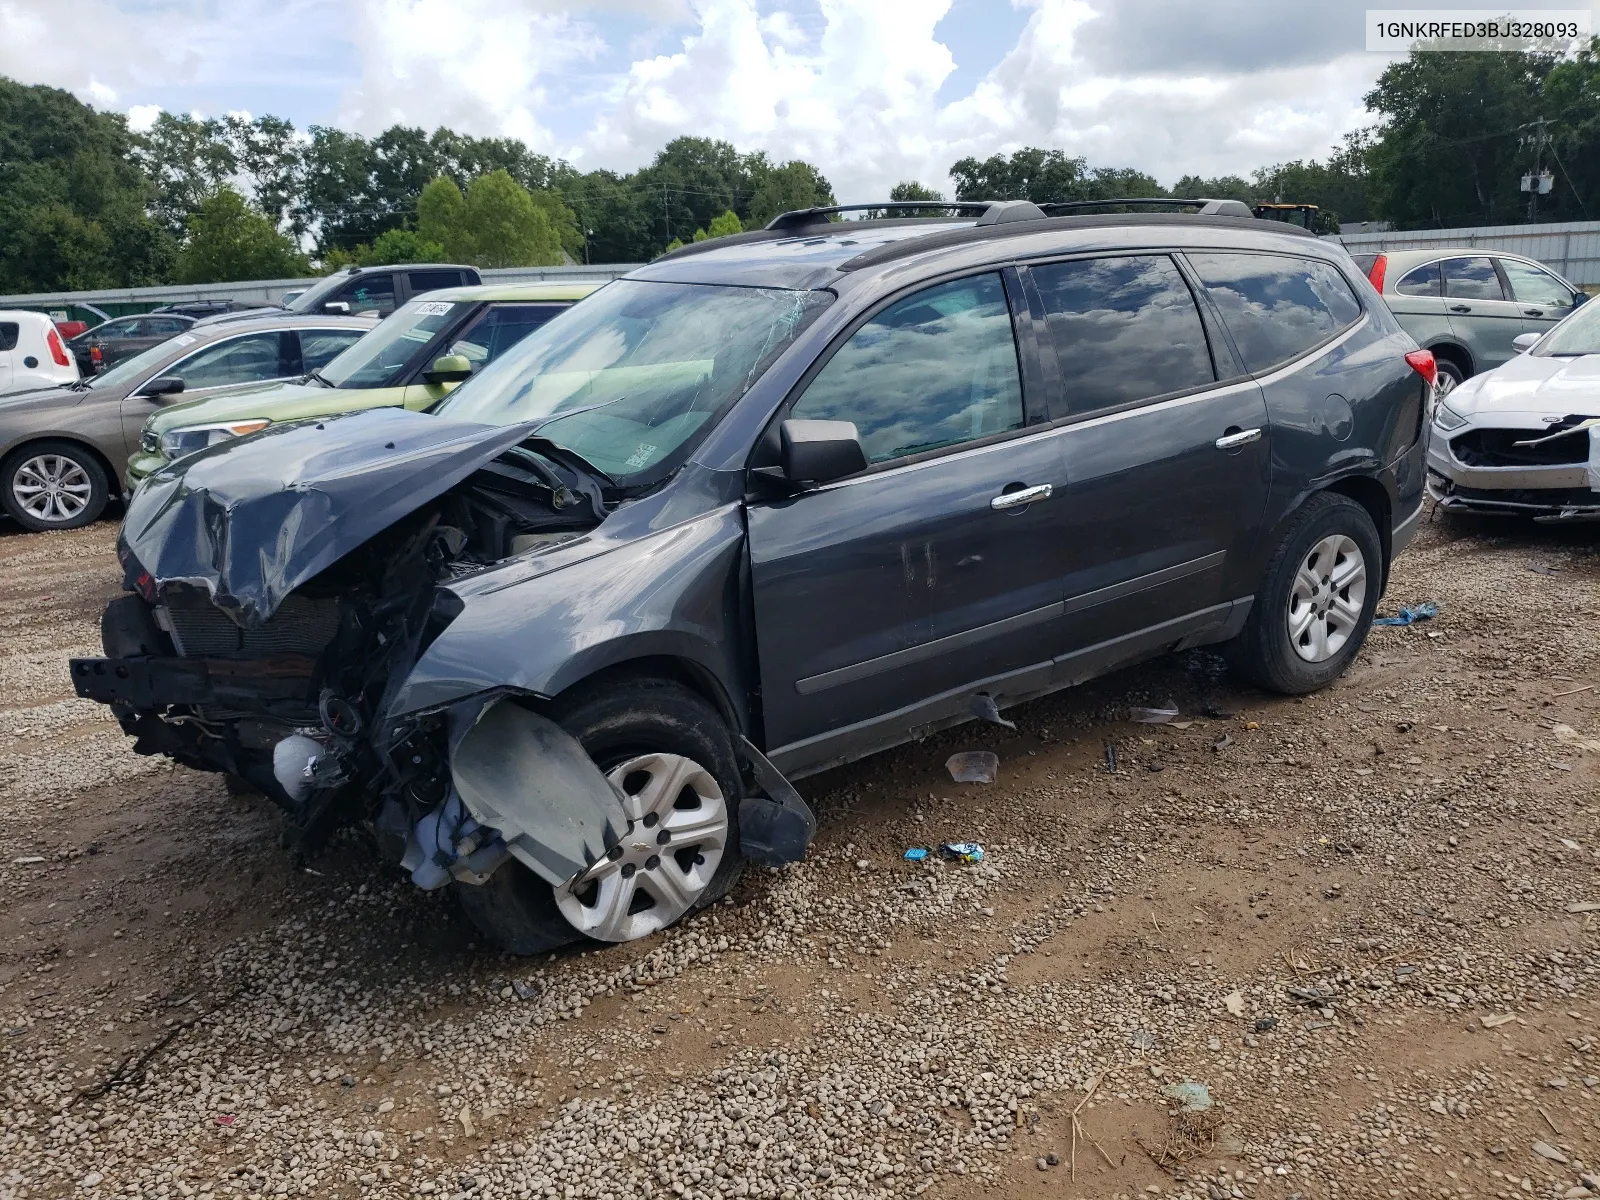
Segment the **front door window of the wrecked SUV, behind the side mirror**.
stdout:
<path fill-rule="evenodd" d="M 829 358 L 790 416 L 853 421 L 870 462 L 1022 427 L 1011 310 L 998 275 L 891 304 Z"/>

